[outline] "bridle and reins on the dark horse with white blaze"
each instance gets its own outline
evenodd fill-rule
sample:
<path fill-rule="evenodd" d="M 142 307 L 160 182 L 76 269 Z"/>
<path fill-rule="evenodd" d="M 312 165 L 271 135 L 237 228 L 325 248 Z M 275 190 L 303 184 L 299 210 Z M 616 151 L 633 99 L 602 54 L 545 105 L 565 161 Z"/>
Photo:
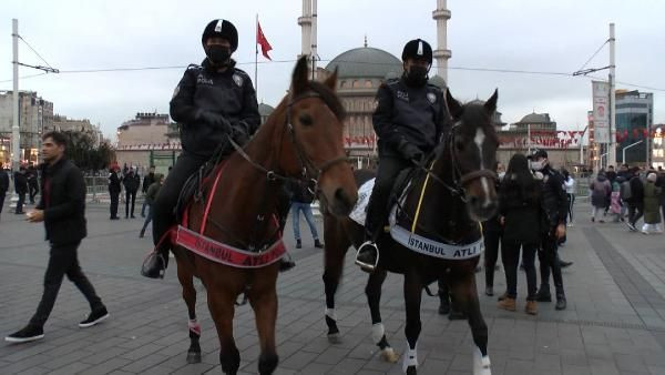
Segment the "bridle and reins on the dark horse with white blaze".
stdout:
<path fill-rule="evenodd" d="M 471 183 L 472 181 L 479 180 L 481 178 L 487 178 L 487 179 L 490 179 L 493 182 L 495 182 L 497 173 L 492 170 L 482 169 L 482 170 L 472 171 L 472 172 L 462 174 L 462 171 L 460 169 L 460 163 L 459 163 L 459 156 L 457 155 L 457 152 L 454 149 L 456 131 L 459 128 L 460 128 L 459 123 L 456 123 L 454 125 L 452 125 L 450 128 L 450 130 L 448 131 L 446 141 L 441 142 L 440 148 L 436 148 L 432 151 L 432 154 L 430 155 L 430 158 L 426 159 L 426 160 L 432 160 L 432 159 L 438 160 L 440 156 L 439 153 L 443 153 L 443 152 L 446 152 L 446 149 L 448 149 L 448 151 L 450 152 L 450 163 L 452 165 L 452 168 L 450 169 L 450 174 L 451 174 L 450 180 L 452 181 L 452 184 L 446 182 L 441 176 L 437 175 L 437 173 L 434 173 L 431 170 L 431 165 L 430 165 L 430 168 L 426 168 L 423 164 L 417 163 L 417 166 L 422 172 L 429 174 L 429 176 L 432 180 L 434 180 L 436 182 L 441 184 L 443 188 L 446 188 L 453 196 L 458 196 L 460 200 L 462 200 L 462 202 L 467 203 L 466 186 L 468 186 L 469 183 Z M 482 150 L 480 150 L 480 152 L 482 152 Z"/>

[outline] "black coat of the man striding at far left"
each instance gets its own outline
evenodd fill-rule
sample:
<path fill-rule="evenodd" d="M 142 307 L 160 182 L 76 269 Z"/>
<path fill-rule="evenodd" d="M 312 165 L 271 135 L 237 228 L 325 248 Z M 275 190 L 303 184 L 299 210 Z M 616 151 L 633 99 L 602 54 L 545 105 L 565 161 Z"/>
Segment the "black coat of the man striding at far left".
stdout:
<path fill-rule="evenodd" d="M 54 244 L 80 242 L 88 235 L 85 225 L 85 181 L 81 170 L 66 159 L 53 166 L 43 165 L 42 194 L 37 205 L 44 211 L 47 240 Z"/>

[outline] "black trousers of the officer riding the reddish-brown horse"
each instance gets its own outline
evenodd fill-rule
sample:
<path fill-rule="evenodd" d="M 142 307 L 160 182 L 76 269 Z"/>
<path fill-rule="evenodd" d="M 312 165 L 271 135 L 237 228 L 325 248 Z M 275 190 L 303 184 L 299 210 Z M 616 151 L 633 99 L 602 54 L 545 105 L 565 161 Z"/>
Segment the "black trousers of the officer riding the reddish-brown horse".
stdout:
<path fill-rule="evenodd" d="M 173 165 L 173 170 L 171 170 L 171 173 L 166 176 L 164 184 L 160 188 L 160 192 L 151 206 L 153 216 L 153 243 L 155 245 L 160 242 L 162 235 L 175 224 L 173 210 L 177 204 L 177 199 L 183 185 L 206 161 L 206 158 L 196 156 L 187 152 L 183 152 L 177 158 L 175 165 Z M 168 249 L 162 247 L 161 251 L 168 251 Z"/>

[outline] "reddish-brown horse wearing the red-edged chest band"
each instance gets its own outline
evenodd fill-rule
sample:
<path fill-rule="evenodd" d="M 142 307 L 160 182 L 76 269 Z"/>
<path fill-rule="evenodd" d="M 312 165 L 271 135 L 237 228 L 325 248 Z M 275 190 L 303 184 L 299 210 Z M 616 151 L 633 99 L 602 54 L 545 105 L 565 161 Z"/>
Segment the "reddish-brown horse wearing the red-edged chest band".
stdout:
<path fill-rule="evenodd" d="M 243 250 L 266 249 L 280 241 L 274 219 L 284 204 L 279 192 L 291 179 L 314 179 L 327 212 L 346 215 L 357 190 L 342 146 L 344 109 L 335 94 L 337 74 L 324 83 L 307 79 L 307 61 L 298 60 L 289 93 L 262 125 L 245 150 L 237 150 L 224 164 L 217 183 L 204 183 L 204 195 L 213 194 L 209 212 L 203 203 L 187 209 L 188 229 L 219 243 Z M 204 219 L 206 217 L 206 219 Z M 233 337 L 234 303 L 246 291 L 256 317 L 260 342 L 258 372 L 272 374 L 278 363 L 275 349 L 277 318 L 276 281 L 279 262 L 241 268 L 195 254 L 182 246 L 173 250 L 177 277 L 190 314 L 191 345 L 187 362 L 201 362 L 201 327 L 196 322 L 194 276 L 207 291 L 211 315 L 219 337 L 219 362 L 226 374 L 236 374 L 239 352 Z"/>

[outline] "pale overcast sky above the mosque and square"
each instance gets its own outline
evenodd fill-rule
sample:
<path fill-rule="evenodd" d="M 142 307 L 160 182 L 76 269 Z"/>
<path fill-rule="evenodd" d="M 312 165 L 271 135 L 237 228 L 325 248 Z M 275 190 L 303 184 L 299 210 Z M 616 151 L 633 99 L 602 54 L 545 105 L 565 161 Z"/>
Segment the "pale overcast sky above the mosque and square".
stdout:
<path fill-rule="evenodd" d="M 337 54 L 370 47 L 401 54 L 403 43 L 423 38 L 436 45 L 436 0 L 319 0 L 318 45 L 323 64 Z M 451 92 L 462 100 L 488 98 L 499 88 L 505 122 L 548 112 L 560 129 L 584 128 L 591 108 L 587 78 L 483 72 L 469 68 L 572 73 L 607 40 L 616 24 L 617 88 L 654 92 L 654 120 L 665 122 L 665 1 L 657 0 L 449 0 Z M 54 112 L 101 123 L 106 135 L 136 112 L 168 111 L 173 89 L 188 63 L 204 53 L 201 32 L 215 18 L 236 24 L 239 68 L 254 77 L 255 14 L 276 62 L 259 53 L 258 100 L 277 103 L 300 52 L 300 0 L 2 0 L 0 90 L 11 90 L 11 19 L 19 33 L 60 74 L 25 78 L 21 90 L 52 101 Z M 20 42 L 19 60 L 44 64 Z M 607 44 L 587 68 L 608 64 Z M 140 71 L 88 70 L 176 67 Z M 21 68 L 20 75 L 38 71 Z M 606 71 L 595 73 L 606 79 Z M 652 88 L 651 90 L 647 88 Z"/>

